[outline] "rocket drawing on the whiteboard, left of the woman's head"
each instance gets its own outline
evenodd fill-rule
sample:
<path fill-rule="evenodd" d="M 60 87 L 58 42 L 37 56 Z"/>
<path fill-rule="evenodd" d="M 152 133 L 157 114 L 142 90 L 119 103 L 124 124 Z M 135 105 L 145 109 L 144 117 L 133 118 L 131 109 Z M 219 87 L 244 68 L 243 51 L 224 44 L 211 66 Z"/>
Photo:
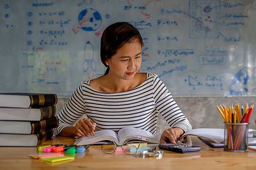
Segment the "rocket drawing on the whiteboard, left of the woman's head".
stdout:
<path fill-rule="evenodd" d="M 83 71 L 86 73 L 88 69 L 92 69 L 92 71 L 96 72 L 96 63 L 94 61 L 93 56 L 94 50 L 92 43 L 90 41 L 87 41 L 84 45 L 84 62 L 83 62 Z"/>

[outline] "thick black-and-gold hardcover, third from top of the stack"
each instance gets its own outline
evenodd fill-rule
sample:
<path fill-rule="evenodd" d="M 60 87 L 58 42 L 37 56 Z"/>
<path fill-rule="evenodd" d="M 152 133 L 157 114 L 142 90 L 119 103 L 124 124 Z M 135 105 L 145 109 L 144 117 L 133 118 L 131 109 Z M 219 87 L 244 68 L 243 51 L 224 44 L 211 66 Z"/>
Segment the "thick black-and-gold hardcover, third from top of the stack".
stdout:
<path fill-rule="evenodd" d="M 0 121 L 0 133 L 5 134 L 37 134 L 58 127 L 58 117 L 47 118 L 36 122 Z"/>

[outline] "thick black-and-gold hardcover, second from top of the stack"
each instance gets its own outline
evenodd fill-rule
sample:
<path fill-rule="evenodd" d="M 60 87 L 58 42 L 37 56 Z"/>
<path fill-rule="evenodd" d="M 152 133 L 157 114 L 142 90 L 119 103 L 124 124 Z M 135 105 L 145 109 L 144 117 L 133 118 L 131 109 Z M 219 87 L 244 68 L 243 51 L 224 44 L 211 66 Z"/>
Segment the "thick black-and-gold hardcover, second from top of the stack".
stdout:
<path fill-rule="evenodd" d="M 0 120 L 40 121 L 51 118 L 56 106 L 44 108 L 0 108 Z"/>

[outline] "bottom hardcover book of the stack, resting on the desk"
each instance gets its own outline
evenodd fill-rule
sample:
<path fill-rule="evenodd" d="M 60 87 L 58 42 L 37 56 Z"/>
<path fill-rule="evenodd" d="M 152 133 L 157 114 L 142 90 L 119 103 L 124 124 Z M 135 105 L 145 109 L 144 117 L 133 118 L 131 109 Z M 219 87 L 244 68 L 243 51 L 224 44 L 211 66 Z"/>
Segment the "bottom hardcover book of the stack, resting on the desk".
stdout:
<path fill-rule="evenodd" d="M 0 146 L 38 146 L 52 138 L 52 129 L 38 134 L 0 134 Z"/>

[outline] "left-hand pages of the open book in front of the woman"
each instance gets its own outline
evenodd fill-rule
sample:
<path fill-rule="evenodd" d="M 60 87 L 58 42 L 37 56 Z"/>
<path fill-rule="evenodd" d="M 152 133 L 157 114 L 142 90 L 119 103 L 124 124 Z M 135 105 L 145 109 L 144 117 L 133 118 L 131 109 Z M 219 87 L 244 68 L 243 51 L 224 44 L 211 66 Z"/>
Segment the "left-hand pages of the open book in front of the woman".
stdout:
<path fill-rule="evenodd" d="M 106 141 L 118 144 L 116 133 L 111 130 L 96 131 L 93 136 L 76 139 L 74 145 L 106 144 Z"/>

